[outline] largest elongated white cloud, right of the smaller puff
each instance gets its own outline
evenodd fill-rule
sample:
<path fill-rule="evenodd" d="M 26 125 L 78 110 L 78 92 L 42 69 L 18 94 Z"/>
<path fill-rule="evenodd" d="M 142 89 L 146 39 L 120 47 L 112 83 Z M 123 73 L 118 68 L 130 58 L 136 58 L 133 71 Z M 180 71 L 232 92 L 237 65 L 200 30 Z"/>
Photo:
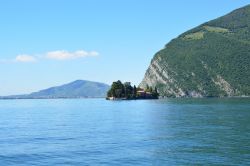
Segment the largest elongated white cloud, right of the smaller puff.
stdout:
<path fill-rule="evenodd" d="M 68 60 L 68 59 L 77 59 L 77 58 L 84 58 L 84 57 L 98 56 L 98 55 L 99 53 L 96 51 L 87 52 L 84 50 L 77 50 L 75 52 L 69 52 L 65 50 L 58 50 L 46 53 L 45 57 L 54 60 Z"/>

